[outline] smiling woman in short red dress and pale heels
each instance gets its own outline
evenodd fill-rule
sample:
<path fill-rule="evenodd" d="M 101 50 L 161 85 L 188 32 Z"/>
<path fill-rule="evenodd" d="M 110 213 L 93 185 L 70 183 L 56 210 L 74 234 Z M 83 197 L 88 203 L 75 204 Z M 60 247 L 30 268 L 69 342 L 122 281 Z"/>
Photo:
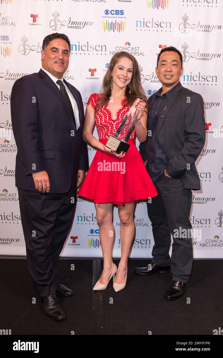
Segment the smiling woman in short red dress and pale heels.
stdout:
<path fill-rule="evenodd" d="M 116 133 L 130 107 L 139 97 L 143 101 L 136 104 L 139 115 L 128 141 L 130 147 L 127 153 L 117 154 L 105 144 L 109 136 Z M 146 96 L 140 83 L 139 65 L 136 59 L 124 51 L 116 53 L 103 79 L 102 92 L 93 93 L 89 97 L 83 129 L 83 139 L 97 148 L 86 178 L 78 191 L 78 195 L 94 200 L 99 226 L 103 271 L 93 290 L 105 290 L 112 277 L 116 292 L 125 287 L 127 261 L 135 236 L 136 200 L 157 195 L 135 145 L 136 136 L 140 142 L 146 140 L 145 108 Z M 95 124 L 99 140 L 92 135 Z M 118 270 L 112 261 L 115 238 L 112 222 L 113 204 L 117 204 L 120 218 L 121 259 Z"/>

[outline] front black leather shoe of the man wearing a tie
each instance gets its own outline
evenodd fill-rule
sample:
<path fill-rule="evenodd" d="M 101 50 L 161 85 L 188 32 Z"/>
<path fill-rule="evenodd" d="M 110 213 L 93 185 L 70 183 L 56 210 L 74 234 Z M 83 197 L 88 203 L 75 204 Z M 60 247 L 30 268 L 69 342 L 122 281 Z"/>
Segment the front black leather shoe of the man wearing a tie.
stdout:
<path fill-rule="evenodd" d="M 57 296 L 54 293 L 49 296 L 42 296 L 41 303 L 45 313 L 52 319 L 59 321 L 65 317 L 65 313 L 57 302 Z"/>

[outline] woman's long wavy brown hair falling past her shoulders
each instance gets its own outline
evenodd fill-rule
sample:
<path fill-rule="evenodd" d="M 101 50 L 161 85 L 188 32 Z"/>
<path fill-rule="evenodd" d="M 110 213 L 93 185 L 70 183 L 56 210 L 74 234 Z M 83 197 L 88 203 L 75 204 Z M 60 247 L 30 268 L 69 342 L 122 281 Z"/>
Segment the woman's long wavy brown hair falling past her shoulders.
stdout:
<path fill-rule="evenodd" d="M 136 100 L 136 98 L 139 97 L 141 97 L 144 100 L 144 102 L 147 102 L 144 89 L 142 88 L 140 82 L 140 72 L 139 72 L 138 62 L 136 61 L 135 57 L 132 56 L 130 53 L 125 51 L 120 51 L 117 52 L 115 55 L 113 55 L 111 58 L 108 71 L 106 72 L 105 77 L 103 78 L 100 96 L 98 97 L 97 104 L 94 108 L 95 113 L 110 101 L 112 70 L 116 65 L 117 61 L 122 57 L 129 58 L 133 64 L 132 79 L 131 79 L 131 83 L 132 83 L 131 94 L 129 93 L 129 86 L 127 85 L 125 89 L 125 98 L 127 100 L 125 102 L 125 106 L 131 107 L 134 101 Z"/>

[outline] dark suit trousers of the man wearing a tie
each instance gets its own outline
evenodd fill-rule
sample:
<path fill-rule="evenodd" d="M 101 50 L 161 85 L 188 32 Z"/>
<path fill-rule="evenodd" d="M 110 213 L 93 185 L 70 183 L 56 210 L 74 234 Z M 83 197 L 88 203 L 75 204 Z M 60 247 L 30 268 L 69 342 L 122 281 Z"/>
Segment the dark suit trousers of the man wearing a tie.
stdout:
<path fill-rule="evenodd" d="M 56 292 L 59 255 L 71 227 L 76 193 L 32 192 L 18 188 L 26 257 L 40 296 Z M 72 199 L 73 198 L 73 199 Z"/>

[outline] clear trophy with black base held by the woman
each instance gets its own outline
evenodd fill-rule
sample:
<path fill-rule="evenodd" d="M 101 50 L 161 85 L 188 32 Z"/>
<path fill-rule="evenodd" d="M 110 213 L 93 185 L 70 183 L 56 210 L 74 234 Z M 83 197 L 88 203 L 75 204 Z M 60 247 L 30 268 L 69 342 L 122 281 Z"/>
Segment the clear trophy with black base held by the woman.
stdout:
<path fill-rule="evenodd" d="M 107 140 L 106 147 L 113 149 L 116 153 L 120 154 L 122 151 L 127 152 L 130 147 L 130 144 L 127 144 L 129 137 L 134 129 L 137 117 L 139 115 L 139 110 L 135 108 L 136 102 L 142 100 L 142 98 L 137 98 L 133 105 L 131 106 L 129 112 L 123 119 L 121 125 L 119 126 L 116 134 L 114 136 L 110 135 Z M 125 139 L 122 139 L 123 134 L 126 134 Z"/>

